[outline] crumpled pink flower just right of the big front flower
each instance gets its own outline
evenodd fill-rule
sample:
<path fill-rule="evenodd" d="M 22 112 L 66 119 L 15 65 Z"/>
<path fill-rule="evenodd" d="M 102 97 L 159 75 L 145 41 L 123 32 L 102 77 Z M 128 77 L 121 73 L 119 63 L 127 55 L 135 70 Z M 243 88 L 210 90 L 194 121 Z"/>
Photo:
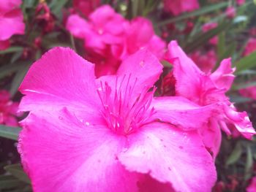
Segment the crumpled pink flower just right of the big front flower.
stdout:
<path fill-rule="evenodd" d="M 170 42 L 167 57 L 173 64 L 177 96 L 184 96 L 201 106 L 218 105 L 216 114 L 209 120 L 208 126 L 200 128 L 204 143 L 214 156 L 219 151 L 221 141 L 219 127 L 227 134 L 231 134 L 230 128 L 227 126 L 231 124 L 244 137 L 252 138 L 255 130 L 252 128 L 252 123 L 246 112 L 237 112 L 225 96 L 225 92 L 230 89 L 234 79 L 234 69 L 231 69 L 230 59 L 223 60 L 219 68 L 212 74 L 206 74 L 187 57 L 176 41 Z"/>

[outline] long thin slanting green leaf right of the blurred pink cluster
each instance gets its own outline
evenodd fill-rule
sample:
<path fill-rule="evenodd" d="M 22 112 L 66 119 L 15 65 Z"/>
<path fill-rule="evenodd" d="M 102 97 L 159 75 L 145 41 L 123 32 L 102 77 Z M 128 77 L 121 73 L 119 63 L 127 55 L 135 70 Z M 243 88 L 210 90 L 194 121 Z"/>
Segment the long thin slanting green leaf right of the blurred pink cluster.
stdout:
<path fill-rule="evenodd" d="M 219 4 L 212 4 L 212 5 L 209 5 L 207 7 L 201 7 L 200 9 L 197 9 L 194 12 L 188 12 L 188 13 L 185 13 L 181 16 L 176 17 L 176 18 L 170 18 L 170 19 L 164 20 L 162 22 L 159 22 L 159 23 L 157 23 L 156 26 L 165 26 L 166 24 L 175 23 L 179 20 L 184 20 L 184 19 L 187 19 L 187 18 L 204 15 L 208 12 L 214 12 L 214 11 L 217 11 L 218 9 L 222 9 L 224 7 L 227 7 L 227 5 L 228 5 L 228 2 L 222 2 L 222 3 L 219 3 Z"/>

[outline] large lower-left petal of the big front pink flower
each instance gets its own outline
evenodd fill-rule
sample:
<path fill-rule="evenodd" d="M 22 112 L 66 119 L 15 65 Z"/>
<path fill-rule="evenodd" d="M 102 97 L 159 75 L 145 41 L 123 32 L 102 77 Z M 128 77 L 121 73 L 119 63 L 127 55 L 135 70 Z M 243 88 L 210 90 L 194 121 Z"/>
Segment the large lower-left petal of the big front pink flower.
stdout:
<path fill-rule="evenodd" d="M 31 113 L 23 120 L 18 150 L 34 191 L 136 191 L 138 174 L 116 155 L 126 138 L 104 126 L 86 126 L 67 110 Z M 45 185 L 47 183 L 47 185 Z"/>

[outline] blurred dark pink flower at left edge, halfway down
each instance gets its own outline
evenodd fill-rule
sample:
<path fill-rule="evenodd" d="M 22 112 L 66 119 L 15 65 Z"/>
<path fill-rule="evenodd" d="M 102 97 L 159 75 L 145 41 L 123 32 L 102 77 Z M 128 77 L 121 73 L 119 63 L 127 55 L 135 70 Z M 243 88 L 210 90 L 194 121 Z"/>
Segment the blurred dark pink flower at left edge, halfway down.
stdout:
<path fill-rule="evenodd" d="M 7 126 L 18 126 L 16 112 L 18 103 L 10 100 L 10 93 L 0 91 L 0 124 Z"/>

